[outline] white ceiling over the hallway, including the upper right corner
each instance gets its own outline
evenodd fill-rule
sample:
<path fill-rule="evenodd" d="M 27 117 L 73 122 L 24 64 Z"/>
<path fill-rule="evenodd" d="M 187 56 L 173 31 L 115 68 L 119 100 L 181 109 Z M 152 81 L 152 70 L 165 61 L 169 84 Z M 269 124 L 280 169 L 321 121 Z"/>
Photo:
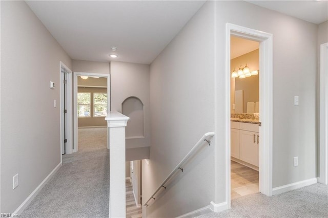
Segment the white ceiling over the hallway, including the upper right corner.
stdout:
<path fill-rule="evenodd" d="M 318 24 L 327 1 L 248 1 Z M 151 63 L 205 1 L 27 1 L 74 60 Z M 117 47 L 116 52 L 111 47 Z M 109 54 L 118 54 L 117 58 Z"/>

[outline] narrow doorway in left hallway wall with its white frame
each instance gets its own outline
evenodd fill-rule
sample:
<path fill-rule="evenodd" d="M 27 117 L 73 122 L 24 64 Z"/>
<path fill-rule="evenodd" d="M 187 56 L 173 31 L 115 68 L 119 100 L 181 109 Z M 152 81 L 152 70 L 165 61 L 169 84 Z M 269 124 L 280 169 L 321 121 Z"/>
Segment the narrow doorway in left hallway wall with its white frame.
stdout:
<path fill-rule="evenodd" d="M 72 71 L 60 61 L 60 156 L 71 154 L 73 144 Z M 61 157 L 60 157 L 60 161 Z"/>

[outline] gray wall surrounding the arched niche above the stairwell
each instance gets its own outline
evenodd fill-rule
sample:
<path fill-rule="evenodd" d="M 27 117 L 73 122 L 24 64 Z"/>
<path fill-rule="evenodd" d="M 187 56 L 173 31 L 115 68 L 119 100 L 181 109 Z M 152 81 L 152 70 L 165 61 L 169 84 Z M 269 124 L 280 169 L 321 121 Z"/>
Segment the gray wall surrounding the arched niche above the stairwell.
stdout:
<path fill-rule="evenodd" d="M 144 104 L 144 138 L 127 139 L 127 148 L 150 146 L 149 65 L 111 61 L 111 110 L 122 112 L 122 103 L 137 97 Z M 127 127 L 129 126 L 129 122 Z"/>

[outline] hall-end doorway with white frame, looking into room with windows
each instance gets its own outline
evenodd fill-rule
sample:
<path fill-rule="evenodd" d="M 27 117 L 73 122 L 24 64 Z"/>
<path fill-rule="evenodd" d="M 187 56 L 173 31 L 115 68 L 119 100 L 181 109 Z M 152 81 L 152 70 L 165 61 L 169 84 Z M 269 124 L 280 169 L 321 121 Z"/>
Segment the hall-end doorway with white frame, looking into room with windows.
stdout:
<path fill-rule="evenodd" d="M 105 117 L 110 111 L 110 75 L 96 73 L 74 72 L 74 143 L 73 152 L 78 151 L 79 142 L 81 148 L 97 149 L 108 148 L 107 122 Z M 81 137 L 79 137 L 79 135 Z M 88 141 L 97 137 L 98 143 L 90 147 Z M 84 146 L 86 145 L 86 146 Z"/>

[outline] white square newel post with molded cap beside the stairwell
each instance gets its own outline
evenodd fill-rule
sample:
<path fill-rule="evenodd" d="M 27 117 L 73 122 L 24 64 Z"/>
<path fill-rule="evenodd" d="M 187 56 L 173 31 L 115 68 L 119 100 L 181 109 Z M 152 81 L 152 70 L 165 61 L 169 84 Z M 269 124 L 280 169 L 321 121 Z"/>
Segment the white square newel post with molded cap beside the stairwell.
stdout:
<path fill-rule="evenodd" d="M 110 112 L 105 119 L 109 129 L 109 217 L 126 217 L 125 127 L 130 118 Z"/>

